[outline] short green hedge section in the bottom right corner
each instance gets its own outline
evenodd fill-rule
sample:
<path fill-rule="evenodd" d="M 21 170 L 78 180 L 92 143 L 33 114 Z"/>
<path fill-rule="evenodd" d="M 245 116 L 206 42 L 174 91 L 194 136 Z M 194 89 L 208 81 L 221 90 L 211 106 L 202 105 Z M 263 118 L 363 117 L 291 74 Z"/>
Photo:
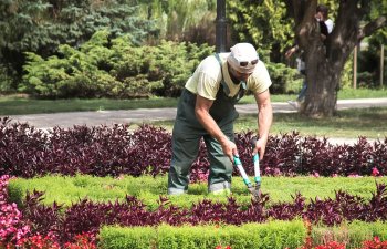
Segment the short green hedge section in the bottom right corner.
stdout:
<path fill-rule="evenodd" d="M 312 239 L 314 245 L 328 241 L 346 243 L 346 248 L 360 248 L 365 240 L 373 240 L 377 236 L 381 241 L 387 240 L 386 222 L 364 222 L 355 220 L 336 227 L 313 227 Z"/>

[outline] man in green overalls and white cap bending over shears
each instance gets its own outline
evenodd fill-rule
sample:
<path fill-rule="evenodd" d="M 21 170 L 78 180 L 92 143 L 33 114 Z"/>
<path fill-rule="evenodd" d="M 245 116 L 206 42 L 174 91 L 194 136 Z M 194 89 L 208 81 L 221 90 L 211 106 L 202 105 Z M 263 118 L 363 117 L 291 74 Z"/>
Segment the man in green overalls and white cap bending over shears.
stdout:
<path fill-rule="evenodd" d="M 200 62 L 187 81 L 177 107 L 172 131 L 172 158 L 168 174 L 168 194 L 187 191 L 189 173 L 203 138 L 210 162 L 208 190 L 230 193 L 234 144 L 236 103 L 247 90 L 258 105 L 259 139 L 253 154 L 263 157 L 272 124 L 268 70 L 250 43 L 238 43 L 229 53 L 210 55 Z"/>

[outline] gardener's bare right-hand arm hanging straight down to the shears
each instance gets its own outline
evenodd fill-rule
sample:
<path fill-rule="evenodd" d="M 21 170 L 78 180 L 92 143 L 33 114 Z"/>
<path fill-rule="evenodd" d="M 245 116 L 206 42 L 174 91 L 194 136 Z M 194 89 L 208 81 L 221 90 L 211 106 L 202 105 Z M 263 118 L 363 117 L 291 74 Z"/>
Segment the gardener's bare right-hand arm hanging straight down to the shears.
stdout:
<path fill-rule="evenodd" d="M 255 93 L 254 97 L 258 105 L 259 139 L 257 141 L 253 154 L 258 152 L 260 158 L 263 158 L 266 143 L 269 139 L 270 127 L 273 121 L 273 110 L 271 106 L 269 90 L 264 91 L 263 93 Z"/>

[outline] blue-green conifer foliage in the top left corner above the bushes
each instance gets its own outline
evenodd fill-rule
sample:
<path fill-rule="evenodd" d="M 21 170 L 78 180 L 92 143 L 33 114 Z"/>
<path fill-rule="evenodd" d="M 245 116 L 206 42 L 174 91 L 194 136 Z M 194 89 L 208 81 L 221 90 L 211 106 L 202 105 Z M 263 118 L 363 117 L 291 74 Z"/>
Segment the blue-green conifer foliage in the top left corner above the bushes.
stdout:
<path fill-rule="evenodd" d="M 158 32 L 127 0 L 0 0 L 0 58 L 19 75 L 24 52 L 50 56 L 60 44 L 79 48 L 103 29 L 113 38 L 129 34 L 135 44 Z"/>

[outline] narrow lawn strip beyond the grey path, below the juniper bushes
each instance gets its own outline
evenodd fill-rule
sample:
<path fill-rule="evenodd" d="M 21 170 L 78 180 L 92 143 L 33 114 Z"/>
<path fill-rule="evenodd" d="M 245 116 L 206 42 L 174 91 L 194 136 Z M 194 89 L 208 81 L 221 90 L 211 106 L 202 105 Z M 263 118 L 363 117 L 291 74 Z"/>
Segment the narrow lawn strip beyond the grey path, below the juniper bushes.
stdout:
<path fill-rule="evenodd" d="M 386 97 L 387 90 L 344 90 L 338 93 L 339 100 Z M 272 102 L 295 100 L 296 95 L 272 95 Z M 178 98 L 151 97 L 148 100 L 35 100 L 25 95 L 0 96 L 0 115 L 22 115 L 36 113 L 82 112 L 104 110 L 134 110 L 155 107 L 176 107 Z M 248 95 L 241 104 L 254 103 L 254 97 Z"/>

